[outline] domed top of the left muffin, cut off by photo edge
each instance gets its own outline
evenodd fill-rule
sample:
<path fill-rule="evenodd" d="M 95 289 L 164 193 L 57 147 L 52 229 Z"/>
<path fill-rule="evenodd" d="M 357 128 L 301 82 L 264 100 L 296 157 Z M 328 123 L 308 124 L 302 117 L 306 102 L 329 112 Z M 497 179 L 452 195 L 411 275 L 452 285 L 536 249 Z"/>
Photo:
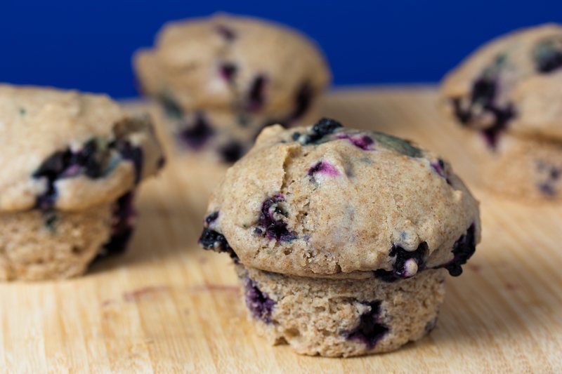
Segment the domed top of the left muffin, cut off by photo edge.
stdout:
<path fill-rule="evenodd" d="M 105 95 L 0 85 L 0 211 L 81 211 L 162 166 L 147 117 Z"/>

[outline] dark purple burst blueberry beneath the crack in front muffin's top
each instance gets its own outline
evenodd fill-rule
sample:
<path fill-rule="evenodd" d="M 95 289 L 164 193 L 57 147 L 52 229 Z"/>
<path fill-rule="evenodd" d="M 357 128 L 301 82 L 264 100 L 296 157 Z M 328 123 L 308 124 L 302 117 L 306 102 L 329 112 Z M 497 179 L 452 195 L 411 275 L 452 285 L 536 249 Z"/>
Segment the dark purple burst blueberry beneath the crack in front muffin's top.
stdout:
<path fill-rule="evenodd" d="M 275 194 L 261 204 L 258 225 L 254 234 L 265 235 L 269 240 L 292 241 L 296 235 L 287 228 L 287 212 L 282 207 L 285 198 Z"/>

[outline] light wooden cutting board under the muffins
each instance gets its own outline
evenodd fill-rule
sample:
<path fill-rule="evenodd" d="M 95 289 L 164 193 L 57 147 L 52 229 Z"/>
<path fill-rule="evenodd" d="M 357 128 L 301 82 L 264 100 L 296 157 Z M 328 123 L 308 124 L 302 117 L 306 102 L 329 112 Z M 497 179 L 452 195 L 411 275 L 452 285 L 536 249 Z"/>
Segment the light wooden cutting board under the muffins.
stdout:
<path fill-rule="evenodd" d="M 79 279 L 0 285 L 6 373 L 562 372 L 562 206 L 478 188 L 432 88 L 335 91 L 324 112 L 416 140 L 452 161 L 481 201 L 483 241 L 429 337 L 398 352 L 323 359 L 269 347 L 246 320 L 226 255 L 197 248 L 220 168 L 172 161 L 143 185 L 129 252 Z"/>

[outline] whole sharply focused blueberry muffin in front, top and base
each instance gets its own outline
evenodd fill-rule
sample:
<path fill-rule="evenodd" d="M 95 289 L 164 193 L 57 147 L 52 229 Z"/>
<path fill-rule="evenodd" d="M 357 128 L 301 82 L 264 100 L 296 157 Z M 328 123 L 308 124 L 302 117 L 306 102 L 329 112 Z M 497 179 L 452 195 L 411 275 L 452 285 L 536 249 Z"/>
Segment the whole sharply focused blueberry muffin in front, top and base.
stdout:
<path fill-rule="evenodd" d="M 261 132 L 214 192 L 200 245 L 233 258 L 270 342 L 357 356 L 428 333 L 447 271 L 462 273 L 480 233 L 443 159 L 322 119 Z"/>

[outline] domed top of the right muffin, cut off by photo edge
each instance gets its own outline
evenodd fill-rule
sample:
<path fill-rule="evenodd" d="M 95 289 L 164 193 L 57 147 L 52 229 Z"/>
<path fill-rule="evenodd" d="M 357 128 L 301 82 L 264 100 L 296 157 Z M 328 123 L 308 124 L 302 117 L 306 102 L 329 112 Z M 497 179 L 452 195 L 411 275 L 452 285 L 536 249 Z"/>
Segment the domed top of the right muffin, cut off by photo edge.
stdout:
<path fill-rule="evenodd" d="M 495 147 L 502 131 L 562 140 L 562 26 L 490 41 L 445 76 L 444 105 Z"/>

